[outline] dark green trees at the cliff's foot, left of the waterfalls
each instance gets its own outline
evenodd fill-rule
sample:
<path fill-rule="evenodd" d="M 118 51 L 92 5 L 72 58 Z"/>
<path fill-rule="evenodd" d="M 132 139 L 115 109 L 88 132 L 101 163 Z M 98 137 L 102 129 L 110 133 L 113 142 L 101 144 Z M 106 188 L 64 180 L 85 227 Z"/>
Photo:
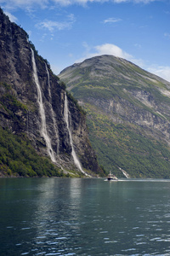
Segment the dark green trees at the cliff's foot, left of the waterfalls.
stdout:
<path fill-rule="evenodd" d="M 0 172 L 5 176 L 64 176 L 48 158 L 41 157 L 26 136 L 17 136 L 0 127 Z"/>

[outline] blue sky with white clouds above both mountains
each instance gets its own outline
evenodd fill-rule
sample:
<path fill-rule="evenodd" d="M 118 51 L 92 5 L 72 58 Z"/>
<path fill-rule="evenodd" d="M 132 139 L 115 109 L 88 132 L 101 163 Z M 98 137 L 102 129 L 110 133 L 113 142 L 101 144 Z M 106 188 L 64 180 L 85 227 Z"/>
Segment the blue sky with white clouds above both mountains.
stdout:
<path fill-rule="evenodd" d="M 55 74 L 116 55 L 170 81 L 170 0 L 0 0 Z"/>

